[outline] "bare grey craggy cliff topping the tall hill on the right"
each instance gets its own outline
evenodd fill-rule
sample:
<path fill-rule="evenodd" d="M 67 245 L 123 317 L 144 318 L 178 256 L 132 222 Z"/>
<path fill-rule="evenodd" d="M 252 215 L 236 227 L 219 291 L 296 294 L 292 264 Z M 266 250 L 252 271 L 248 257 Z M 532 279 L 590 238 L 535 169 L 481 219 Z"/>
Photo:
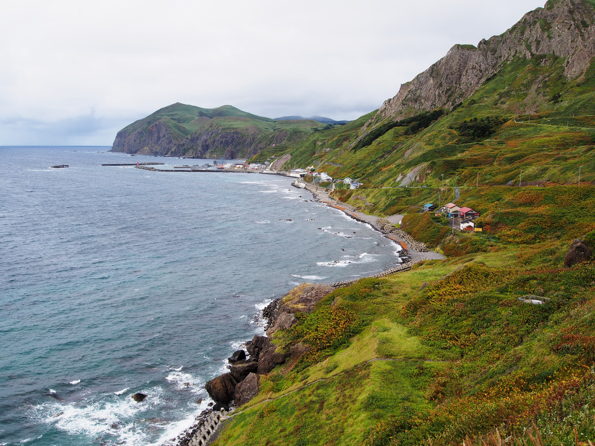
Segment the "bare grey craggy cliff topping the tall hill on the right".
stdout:
<path fill-rule="evenodd" d="M 580 77 L 595 56 L 594 23 L 595 10 L 583 0 L 549 0 L 504 34 L 481 40 L 477 48 L 453 46 L 424 73 L 402 84 L 378 114 L 400 120 L 434 108 L 452 109 L 514 58 L 555 55 L 565 59 L 566 77 Z"/>

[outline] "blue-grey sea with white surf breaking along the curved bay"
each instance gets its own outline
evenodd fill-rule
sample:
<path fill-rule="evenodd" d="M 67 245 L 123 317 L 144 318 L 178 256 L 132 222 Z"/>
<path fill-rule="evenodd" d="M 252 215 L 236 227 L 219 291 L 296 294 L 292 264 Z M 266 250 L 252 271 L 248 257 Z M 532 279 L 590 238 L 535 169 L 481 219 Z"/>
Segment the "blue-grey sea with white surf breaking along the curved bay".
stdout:
<path fill-rule="evenodd" d="M 399 262 L 289 178 L 108 149 L 0 147 L 0 445 L 161 445 L 268 302 Z"/>

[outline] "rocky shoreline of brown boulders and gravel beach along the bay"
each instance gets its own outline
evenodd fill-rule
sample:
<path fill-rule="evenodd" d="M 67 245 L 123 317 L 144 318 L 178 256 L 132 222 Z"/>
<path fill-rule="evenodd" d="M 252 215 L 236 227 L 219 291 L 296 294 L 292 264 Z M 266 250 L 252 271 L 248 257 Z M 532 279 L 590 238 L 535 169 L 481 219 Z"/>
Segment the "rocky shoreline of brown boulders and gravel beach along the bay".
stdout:
<path fill-rule="evenodd" d="M 358 212 L 346 203 L 337 202 L 324 191 L 312 190 L 312 193 L 317 201 L 326 203 L 345 212 L 353 219 L 371 225 L 390 240 L 400 244 L 406 254 L 401 258 L 405 261 L 395 268 L 374 274 L 372 277 L 380 278 L 400 271 L 409 271 L 413 263 L 421 260 L 444 258 L 440 254 L 428 250 L 423 243 L 414 240 L 405 231 L 394 227 L 392 223 L 396 223 L 395 220 L 402 216 L 378 218 Z M 255 335 L 245 344 L 245 350 L 237 350 L 228 358 L 229 371 L 227 373 L 206 382 L 205 389 L 214 401 L 214 406 L 204 410 L 196 417 L 196 422 L 191 428 L 177 438 L 171 439 L 167 446 L 205 446 L 216 438 L 220 423 L 229 416 L 233 416 L 231 412 L 236 407 L 243 406 L 258 395 L 261 375 L 270 373 L 275 366 L 284 364 L 288 360 L 297 362 L 300 356 L 308 353 L 309 347 L 302 344 L 291 347 L 289 351 L 278 351 L 275 344 L 271 342 L 274 332 L 279 329 L 290 329 L 297 323 L 296 313 L 312 312 L 315 304 L 332 293 L 333 290 L 349 286 L 355 281 L 356 279 L 333 284 L 301 284 L 293 288 L 283 298 L 275 299 L 268 304 L 262 310 L 262 318 L 267 321 L 266 335 Z"/>

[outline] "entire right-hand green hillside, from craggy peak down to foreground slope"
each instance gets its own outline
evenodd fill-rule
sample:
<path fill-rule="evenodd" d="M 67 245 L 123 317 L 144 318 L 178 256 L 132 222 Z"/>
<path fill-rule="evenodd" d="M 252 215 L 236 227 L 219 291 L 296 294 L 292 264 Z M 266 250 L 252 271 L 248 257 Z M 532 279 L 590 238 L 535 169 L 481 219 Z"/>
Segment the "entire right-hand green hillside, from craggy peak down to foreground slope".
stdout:
<path fill-rule="evenodd" d="M 254 157 L 359 178 L 331 195 L 405 215 L 447 258 L 297 313 L 272 339 L 307 353 L 261 376 L 215 446 L 595 443 L 595 261 L 565 264 L 576 238 L 595 250 L 594 4 L 550 0 L 377 111 Z M 450 201 L 482 231 L 420 212 Z"/>

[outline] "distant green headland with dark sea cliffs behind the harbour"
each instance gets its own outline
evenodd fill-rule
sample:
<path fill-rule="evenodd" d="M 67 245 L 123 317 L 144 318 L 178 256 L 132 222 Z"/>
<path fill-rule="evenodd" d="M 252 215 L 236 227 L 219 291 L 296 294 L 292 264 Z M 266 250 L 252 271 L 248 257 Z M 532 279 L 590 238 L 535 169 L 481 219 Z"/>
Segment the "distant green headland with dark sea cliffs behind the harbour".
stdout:
<path fill-rule="evenodd" d="M 120 130 L 111 151 L 248 158 L 266 147 L 295 142 L 324 127 L 313 120 L 271 120 L 231 105 L 208 109 L 178 102 Z"/>

